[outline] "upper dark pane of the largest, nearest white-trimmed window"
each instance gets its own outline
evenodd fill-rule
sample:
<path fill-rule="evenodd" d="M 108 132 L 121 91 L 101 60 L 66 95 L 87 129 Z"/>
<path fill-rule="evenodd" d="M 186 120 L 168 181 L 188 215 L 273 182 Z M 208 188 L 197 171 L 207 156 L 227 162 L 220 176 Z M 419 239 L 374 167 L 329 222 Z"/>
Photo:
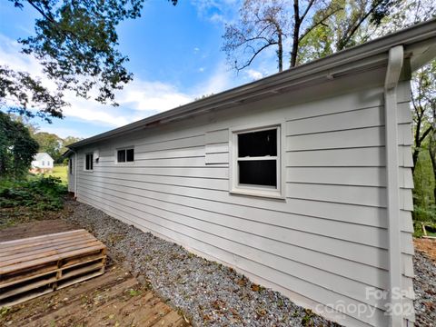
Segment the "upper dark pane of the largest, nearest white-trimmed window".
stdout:
<path fill-rule="evenodd" d="M 277 155 L 277 129 L 238 134 L 238 156 Z"/>

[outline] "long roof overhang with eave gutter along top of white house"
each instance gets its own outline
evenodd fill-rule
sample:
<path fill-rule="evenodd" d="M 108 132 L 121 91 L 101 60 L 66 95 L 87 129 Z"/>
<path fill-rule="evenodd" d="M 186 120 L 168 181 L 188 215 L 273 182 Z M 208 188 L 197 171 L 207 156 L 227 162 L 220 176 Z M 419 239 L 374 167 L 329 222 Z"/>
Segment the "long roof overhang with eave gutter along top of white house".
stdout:
<path fill-rule="evenodd" d="M 293 67 L 282 73 L 272 74 L 256 82 L 244 84 L 190 104 L 184 104 L 162 114 L 155 114 L 132 124 L 70 144 L 68 147 L 74 149 L 119 134 L 181 120 L 191 115 L 246 104 L 274 94 L 288 92 L 300 84 L 316 84 L 339 76 L 386 66 L 389 50 L 396 45 L 403 46 L 404 57 L 410 58 L 412 71 L 430 62 L 436 57 L 436 19 L 383 36 L 363 45 L 342 50 L 311 63 Z"/>

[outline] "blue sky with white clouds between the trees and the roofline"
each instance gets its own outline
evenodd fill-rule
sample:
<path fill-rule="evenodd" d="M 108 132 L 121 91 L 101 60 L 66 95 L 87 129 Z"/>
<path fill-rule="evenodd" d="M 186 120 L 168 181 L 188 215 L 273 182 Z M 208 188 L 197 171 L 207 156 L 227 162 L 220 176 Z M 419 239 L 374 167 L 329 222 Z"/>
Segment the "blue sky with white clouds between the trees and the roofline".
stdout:
<path fill-rule="evenodd" d="M 45 124 L 41 131 L 88 137 L 146 116 L 186 104 L 203 94 L 218 93 L 276 71 L 273 54 L 265 54 L 243 73 L 235 74 L 221 51 L 224 24 L 236 18 L 240 0 L 166 0 L 144 2 L 142 17 L 118 28 L 120 50 L 130 58 L 128 69 L 134 82 L 117 94 L 119 107 L 75 98 L 64 120 Z M 39 75 L 34 58 L 20 54 L 19 37 L 32 35 L 37 14 L 29 7 L 19 10 L 0 2 L 0 64 Z"/>

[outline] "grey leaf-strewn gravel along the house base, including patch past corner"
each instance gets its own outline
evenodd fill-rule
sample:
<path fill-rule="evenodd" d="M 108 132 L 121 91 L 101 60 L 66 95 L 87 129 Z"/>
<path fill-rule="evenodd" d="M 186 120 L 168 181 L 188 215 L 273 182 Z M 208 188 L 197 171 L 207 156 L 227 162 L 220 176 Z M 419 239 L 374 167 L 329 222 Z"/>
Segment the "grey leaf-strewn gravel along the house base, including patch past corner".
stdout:
<path fill-rule="evenodd" d="M 232 268 L 202 259 L 84 203 L 66 205 L 68 223 L 84 227 L 106 243 L 112 257 L 180 308 L 193 325 L 337 326 L 279 292 L 253 284 Z M 436 321 L 436 266 L 419 252 L 414 263 L 417 325 L 431 325 Z"/>

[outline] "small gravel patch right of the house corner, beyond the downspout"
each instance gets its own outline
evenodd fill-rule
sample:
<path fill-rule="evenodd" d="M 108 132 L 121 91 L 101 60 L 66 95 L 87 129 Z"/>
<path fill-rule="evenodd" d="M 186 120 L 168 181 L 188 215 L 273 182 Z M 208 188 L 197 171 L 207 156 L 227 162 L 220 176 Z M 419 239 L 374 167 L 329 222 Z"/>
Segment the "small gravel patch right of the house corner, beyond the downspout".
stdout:
<path fill-rule="evenodd" d="M 436 264 L 415 251 L 415 313 L 417 326 L 436 326 Z"/>

